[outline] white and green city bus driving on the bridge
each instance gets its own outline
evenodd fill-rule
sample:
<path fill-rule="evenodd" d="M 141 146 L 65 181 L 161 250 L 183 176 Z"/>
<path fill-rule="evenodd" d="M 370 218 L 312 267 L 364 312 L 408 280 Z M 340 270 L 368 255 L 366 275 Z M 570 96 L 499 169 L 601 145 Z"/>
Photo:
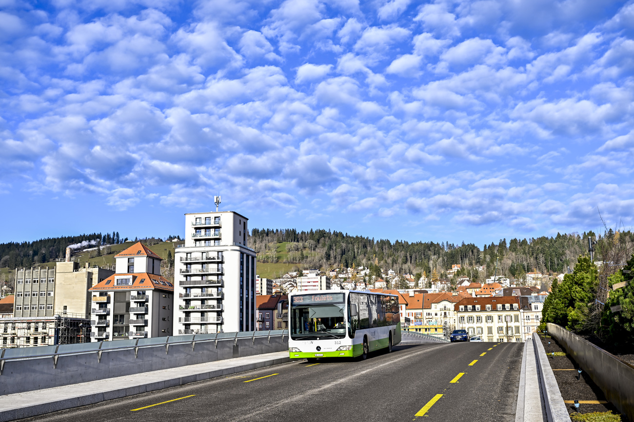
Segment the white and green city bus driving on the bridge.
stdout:
<path fill-rule="evenodd" d="M 401 342 L 398 296 L 354 290 L 288 295 L 291 359 L 361 357 Z"/>

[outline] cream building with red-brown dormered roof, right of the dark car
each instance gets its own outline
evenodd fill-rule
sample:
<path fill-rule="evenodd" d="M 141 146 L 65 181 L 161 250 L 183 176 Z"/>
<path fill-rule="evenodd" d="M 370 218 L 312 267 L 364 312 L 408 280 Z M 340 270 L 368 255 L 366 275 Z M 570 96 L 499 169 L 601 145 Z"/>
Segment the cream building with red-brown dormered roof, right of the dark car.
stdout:
<path fill-rule="evenodd" d="M 517 296 L 470 297 L 454 305 L 456 328 L 487 342 L 522 342 L 522 314 Z"/>

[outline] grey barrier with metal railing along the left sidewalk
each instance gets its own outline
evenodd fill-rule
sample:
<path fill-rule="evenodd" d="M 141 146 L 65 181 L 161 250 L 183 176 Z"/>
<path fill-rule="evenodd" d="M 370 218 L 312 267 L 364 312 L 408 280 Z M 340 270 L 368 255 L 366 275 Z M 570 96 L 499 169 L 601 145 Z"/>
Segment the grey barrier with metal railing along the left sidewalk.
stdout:
<path fill-rule="evenodd" d="M 0 395 L 286 350 L 287 330 L 3 349 Z"/>

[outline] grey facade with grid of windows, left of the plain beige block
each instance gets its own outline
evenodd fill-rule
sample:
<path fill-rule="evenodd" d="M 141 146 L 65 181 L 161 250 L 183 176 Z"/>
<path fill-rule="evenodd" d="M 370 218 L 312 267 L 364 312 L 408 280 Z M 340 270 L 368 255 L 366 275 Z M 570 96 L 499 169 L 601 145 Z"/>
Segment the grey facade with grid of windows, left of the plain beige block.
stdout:
<path fill-rule="evenodd" d="M 16 268 L 15 318 L 53 316 L 54 295 L 55 268 Z"/>

